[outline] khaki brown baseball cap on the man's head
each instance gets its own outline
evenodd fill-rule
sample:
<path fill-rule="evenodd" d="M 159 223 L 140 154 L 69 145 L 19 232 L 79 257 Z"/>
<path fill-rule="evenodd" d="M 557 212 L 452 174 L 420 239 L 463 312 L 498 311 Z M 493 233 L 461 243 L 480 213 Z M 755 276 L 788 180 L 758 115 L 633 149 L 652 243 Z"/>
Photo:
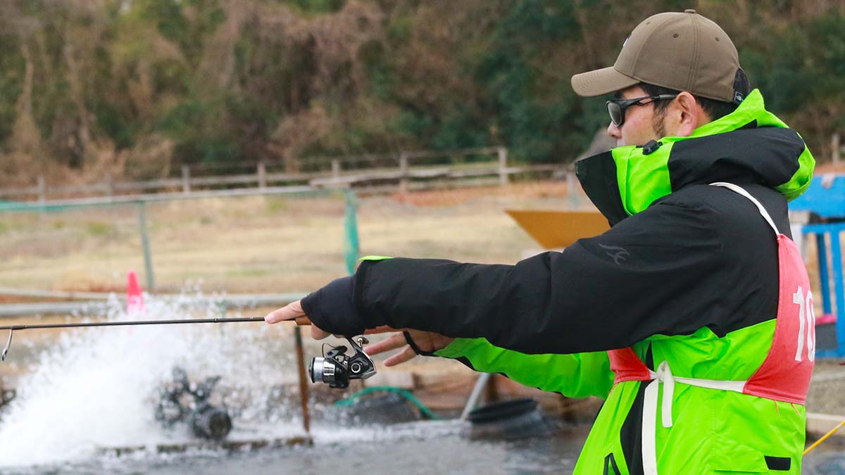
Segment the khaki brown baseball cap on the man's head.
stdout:
<path fill-rule="evenodd" d="M 744 91 L 734 92 L 738 71 L 739 54 L 728 34 L 695 10 L 685 10 L 645 19 L 612 67 L 575 74 L 572 89 L 579 96 L 602 96 L 643 82 L 739 102 Z"/>

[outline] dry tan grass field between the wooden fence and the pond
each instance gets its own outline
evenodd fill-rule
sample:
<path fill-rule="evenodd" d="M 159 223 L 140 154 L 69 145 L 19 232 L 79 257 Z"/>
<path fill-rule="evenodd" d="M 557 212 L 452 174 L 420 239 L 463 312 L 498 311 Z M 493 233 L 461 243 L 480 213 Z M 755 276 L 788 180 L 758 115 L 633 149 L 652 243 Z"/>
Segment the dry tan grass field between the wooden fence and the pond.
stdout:
<path fill-rule="evenodd" d="M 586 199 L 582 199 L 586 204 Z M 569 207 L 564 183 L 359 199 L 362 254 L 513 263 L 536 248 L 505 208 Z M 156 290 L 304 292 L 346 273 L 344 201 L 278 196 L 150 204 Z M 144 282 L 131 206 L 0 216 L 0 286 L 123 291 Z"/>

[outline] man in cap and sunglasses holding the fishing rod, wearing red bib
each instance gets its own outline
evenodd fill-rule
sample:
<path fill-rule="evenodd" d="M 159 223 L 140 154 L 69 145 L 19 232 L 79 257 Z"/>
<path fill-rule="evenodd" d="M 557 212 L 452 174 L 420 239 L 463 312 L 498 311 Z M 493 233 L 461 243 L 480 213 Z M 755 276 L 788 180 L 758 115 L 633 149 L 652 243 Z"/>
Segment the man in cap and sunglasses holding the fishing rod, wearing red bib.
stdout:
<path fill-rule="evenodd" d="M 814 321 L 784 234 L 810 151 L 694 10 L 646 19 L 613 67 L 572 85 L 617 96 L 619 146 L 576 164 L 608 232 L 516 265 L 365 258 L 267 320 L 308 314 L 315 337 L 411 329 L 369 352 L 407 339 L 386 364 L 433 352 L 602 397 L 575 473 L 799 473 Z"/>

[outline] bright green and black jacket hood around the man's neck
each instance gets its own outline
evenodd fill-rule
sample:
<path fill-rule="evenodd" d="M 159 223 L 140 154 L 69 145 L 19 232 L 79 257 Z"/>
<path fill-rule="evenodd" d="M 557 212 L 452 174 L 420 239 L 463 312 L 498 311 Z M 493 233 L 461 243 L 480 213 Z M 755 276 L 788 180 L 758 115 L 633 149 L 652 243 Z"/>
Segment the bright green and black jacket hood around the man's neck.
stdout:
<path fill-rule="evenodd" d="M 689 137 L 616 147 L 575 162 L 581 186 L 611 226 L 693 184 L 759 183 L 792 200 L 810 185 L 814 168 L 804 139 L 766 111 L 760 90 Z"/>

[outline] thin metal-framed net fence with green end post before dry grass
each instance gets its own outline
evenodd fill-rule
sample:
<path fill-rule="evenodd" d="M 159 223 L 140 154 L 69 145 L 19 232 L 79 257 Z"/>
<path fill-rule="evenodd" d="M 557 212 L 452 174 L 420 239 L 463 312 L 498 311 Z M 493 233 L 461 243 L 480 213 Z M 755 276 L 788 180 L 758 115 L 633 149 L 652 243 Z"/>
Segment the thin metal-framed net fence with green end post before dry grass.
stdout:
<path fill-rule="evenodd" d="M 0 204 L 0 287 L 108 291 L 123 285 L 125 270 L 137 269 L 150 292 L 179 292 L 192 276 L 211 281 L 215 291 L 230 287 L 226 283 L 232 280 L 247 282 L 230 288 L 240 293 L 307 290 L 352 269 L 358 254 L 357 200 L 350 190 L 300 188 Z M 319 239 L 308 237 L 309 220 L 320 220 Z M 298 231 L 283 243 L 268 227 Z M 303 256 L 311 243 L 320 246 L 328 270 L 313 269 Z M 296 250 L 286 251 L 292 246 Z M 75 255 L 85 260 L 72 259 Z M 174 260 L 184 262 L 174 265 Z M 217 261 L 221 265 L 214 265 Z M 277 268 L 314 276 L 297 287 L 284 281 L 259 287 L 263 276 L 286 274 Z M 243 276 L 234 275 L 238 272 Z M 65 293 L 0 295 L 52 299 L 65 298 Z"/>

